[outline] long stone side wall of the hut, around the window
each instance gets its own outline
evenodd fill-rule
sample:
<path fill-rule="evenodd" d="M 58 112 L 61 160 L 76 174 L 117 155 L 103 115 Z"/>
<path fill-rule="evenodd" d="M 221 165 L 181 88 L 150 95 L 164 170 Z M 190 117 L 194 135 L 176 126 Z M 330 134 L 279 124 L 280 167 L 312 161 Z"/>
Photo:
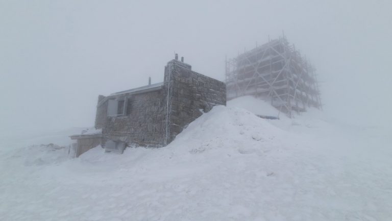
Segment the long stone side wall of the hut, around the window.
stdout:
<path fill-rule="evenodd" d="M 162 146 L 166 119 L 166 94 L 163 89 L 120 96 L 127 99 L 126 115 L 107 116 L 105 113 L 102 116 L 101 113 L 107 111 L 108 102 L 97 108 L 97 114 L 105 119 L 105 139 L 123 141 L 129 145 Z"/>

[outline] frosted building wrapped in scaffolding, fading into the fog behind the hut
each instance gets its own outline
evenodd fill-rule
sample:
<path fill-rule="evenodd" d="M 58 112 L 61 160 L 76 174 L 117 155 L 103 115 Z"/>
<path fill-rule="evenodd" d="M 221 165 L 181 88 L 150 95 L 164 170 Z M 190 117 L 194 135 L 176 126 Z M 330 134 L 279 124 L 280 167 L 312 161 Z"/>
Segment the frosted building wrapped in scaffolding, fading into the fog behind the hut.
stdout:
<path fill-rule="evenodd" d="M 282 112 L 322 109 L 315 69 L 285 37 L 226 61 L 227 99 L 262 97 Z"/>

